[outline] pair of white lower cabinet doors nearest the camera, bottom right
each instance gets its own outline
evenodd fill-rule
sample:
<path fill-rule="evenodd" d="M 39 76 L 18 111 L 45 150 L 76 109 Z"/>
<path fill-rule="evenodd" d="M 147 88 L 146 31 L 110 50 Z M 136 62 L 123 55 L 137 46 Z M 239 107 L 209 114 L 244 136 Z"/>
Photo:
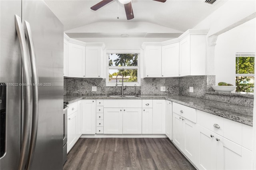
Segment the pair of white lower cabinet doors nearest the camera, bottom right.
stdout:
<path fill-rule="evenodd" d="M 252 169 L 252 151 L 196 125 L 199 151 L 196 166 L 203 170 Z"/>

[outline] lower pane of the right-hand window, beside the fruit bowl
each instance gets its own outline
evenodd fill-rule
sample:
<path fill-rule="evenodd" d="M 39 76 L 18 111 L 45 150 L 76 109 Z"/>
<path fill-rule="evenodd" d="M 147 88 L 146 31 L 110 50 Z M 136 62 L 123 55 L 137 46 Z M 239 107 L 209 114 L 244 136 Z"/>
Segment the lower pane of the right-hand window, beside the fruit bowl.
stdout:
<path fill-rule="evenodd" d="M 236 91 L 254 92 L 254 77 L 236 77 Z"/>

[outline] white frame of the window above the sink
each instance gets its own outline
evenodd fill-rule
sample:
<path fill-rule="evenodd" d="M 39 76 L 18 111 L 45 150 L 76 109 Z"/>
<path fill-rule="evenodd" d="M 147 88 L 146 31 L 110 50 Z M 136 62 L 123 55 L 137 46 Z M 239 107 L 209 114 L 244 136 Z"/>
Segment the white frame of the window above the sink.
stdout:
<path fill-rule="evenodd" d="M 132 54 L 132 53 L 136 53 L 138 54 L 138 66 L 109 66 L 108 65 L 108 55 L 109 54 Z M 116 86 L 116 82 L 109 82 L 108 81 L 108 76 L 109 76 L 109 69 L 137 69 L 137 82 L 124 82 L 124 86 L 130 86 L 130 87 L 134 87 L 136 86 L 140 86 L 141 81 L 140 81 L 140 50 L 106 50 L 106 58 L 107 58 L 107 68 L 106 68 L 106 86 L 110 86 L 110 87 L 115 87 Z M 120 83 L 118 83 L 120 84 Z"/>

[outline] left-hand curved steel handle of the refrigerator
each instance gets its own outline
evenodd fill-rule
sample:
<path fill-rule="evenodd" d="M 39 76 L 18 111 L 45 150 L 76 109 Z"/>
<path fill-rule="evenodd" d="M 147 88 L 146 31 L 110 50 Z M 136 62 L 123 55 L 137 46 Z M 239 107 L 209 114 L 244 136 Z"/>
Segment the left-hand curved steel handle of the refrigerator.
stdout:
<path fill-rule="evenodd" d="M 18 170 L 24 170 L 28 148 L 30 143 L 31 119 L 32 119 L 32 88 L 31 88 L 31 67 L 30 59 L 27 51 L 26 38 L 22 27 L 22 22 L 19 16 L 15 15 L 15 28 L 18 36 L 21 51 L 21 61 L 23 69 L 23 84 L 24 84 L 24 119 L 22 142 L 20 148 L 20 161 Z"/>

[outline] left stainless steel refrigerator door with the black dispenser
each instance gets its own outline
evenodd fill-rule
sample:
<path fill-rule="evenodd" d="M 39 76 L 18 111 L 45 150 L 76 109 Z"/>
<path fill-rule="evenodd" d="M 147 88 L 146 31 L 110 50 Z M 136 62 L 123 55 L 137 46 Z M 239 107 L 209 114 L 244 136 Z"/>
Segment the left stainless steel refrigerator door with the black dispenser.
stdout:
<path fill-rule="evenodd" d="M 2 140 L 6 140 L 5 144 L 1 142 L 1 152 L 4 152 L 0 159 L 1 170 L 18 169 L 20 158 L 21 53 L 14 15 L 22 16 L 21 6 L 21 0 L 0 0 L 0 83 L 7 85 L 6 136 L 0 134 Z M 2 122 L 4 117 L 0 119 Z"/>

